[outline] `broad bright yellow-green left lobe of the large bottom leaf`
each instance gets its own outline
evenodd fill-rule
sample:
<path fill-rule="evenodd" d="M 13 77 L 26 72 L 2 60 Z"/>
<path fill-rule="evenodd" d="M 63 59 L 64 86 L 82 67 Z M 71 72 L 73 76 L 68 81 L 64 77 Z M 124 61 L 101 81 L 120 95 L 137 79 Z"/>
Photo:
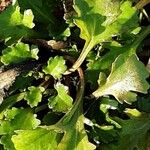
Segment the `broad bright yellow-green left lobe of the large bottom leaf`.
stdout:
<path fill-rule="evenodd" d="M 12 141 L 16 150 L 52 150 L 57 148 L 62 135 L 42 128 L 16 131 Z"/>

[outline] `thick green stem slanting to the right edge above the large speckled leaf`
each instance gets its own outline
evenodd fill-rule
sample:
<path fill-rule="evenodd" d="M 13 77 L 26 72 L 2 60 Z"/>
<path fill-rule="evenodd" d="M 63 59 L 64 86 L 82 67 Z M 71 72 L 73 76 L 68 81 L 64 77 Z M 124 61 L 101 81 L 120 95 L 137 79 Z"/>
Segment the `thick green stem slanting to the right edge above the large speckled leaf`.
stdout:
<path fill-rule="evenodd" d="M 147 26 L 135 39 L 133 44 L 130 46 L 130 52 L 135 53 L 141 42 L 150 34 L 150 25 Z"/>

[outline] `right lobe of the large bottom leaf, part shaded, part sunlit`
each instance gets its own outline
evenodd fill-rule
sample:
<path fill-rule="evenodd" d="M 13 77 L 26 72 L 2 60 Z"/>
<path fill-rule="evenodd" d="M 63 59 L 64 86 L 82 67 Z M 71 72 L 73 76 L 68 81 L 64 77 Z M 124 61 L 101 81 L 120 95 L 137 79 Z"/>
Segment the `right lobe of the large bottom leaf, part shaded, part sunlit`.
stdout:
<path fill-rule="evenodd" d="M 68 122 L 65 134 L 58 145 L 61 150 L 94 150 L 96 147 L 88 141 L 86 131 L 84 129 L 84 116 L 79 115 L 77 110 L 73 119 Z M 78 118 L 76 118 L 78 116 Z M 76 120 L 77 119 L 77 120 Z"/>

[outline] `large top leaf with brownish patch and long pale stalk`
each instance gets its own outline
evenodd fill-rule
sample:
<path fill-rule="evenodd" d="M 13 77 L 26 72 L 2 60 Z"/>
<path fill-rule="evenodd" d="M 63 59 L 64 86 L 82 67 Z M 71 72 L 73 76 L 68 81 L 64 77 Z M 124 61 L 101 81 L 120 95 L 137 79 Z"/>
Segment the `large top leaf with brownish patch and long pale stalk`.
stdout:
<path fill-rule="evenodd" d="M 74 0 L 75 24 L 81 30 L 80 37 L 85 45 L 70 71 L 81 65 L 96 44 L 137 27 L 138 16 L 131 5 L 130 1 L 121 3 L 119 0 Z"/>

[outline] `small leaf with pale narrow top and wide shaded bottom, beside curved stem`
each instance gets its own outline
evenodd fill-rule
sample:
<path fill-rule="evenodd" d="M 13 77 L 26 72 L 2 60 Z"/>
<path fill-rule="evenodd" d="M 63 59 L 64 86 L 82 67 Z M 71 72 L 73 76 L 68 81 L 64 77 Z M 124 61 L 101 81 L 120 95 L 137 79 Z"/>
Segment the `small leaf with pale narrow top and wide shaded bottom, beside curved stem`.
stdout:
<path fill-rule="evenodd" d="M 73 103 L 73 99 L 68 95 L 68 87 L 57 83 L 55 89 L 57 90 L 57 96 L 48 99 L 49 108 L 56 112 L 67 112 Z"/>

